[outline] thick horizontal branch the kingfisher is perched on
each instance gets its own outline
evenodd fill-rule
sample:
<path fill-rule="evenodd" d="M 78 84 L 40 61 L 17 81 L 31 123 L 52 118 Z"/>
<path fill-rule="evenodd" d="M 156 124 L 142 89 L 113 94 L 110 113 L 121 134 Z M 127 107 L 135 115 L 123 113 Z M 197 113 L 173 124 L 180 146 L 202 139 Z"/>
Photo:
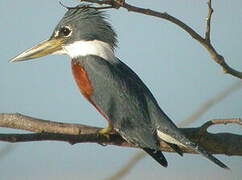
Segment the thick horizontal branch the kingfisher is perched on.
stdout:
<path fill-rule="evenodd" d="M 240 119 L 216 120 L 213 124 L 238 123 Z M 100 136 L 100 128 L 79 124 L 59 123 L 32 118 L 21 114 L 0 114 L 0 127 L 37 132 L 32 134 L 0 134 L 0 141 L 6 142 L 32 142 L 32 141 L 64 141 L 76 143 L 99 143 L 104 145 L 117 145 L 134 147 L 127 143 L 118 134 L 112 132 L 109 137 Z M 182 128 L 181 131 L 192 141 L 201 144 L 213 154 L 226 154 L 242 156 L 242 135 L 232 133 L 212 134 L 206 131 L 206 124 L 199 128 Z M 173 152 L 165 143 L 160 143 L 161 150 Z M 195 153 L 190 149 L 181 147 L 185 153 Z"/>

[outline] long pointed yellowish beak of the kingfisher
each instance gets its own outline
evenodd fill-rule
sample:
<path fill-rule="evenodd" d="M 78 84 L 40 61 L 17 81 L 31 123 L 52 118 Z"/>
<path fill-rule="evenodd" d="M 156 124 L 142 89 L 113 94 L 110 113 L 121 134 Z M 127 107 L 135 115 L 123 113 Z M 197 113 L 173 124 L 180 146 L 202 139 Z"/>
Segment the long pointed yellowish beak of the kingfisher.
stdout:
<path fill-rule="evenodd" d="M 22 52 L 18 56 L 12 58 L 10 62 L 25 61 L 62 51 L 63 42 L 64 39 L 61 38 L 43 41 L 38 45 Z"/>

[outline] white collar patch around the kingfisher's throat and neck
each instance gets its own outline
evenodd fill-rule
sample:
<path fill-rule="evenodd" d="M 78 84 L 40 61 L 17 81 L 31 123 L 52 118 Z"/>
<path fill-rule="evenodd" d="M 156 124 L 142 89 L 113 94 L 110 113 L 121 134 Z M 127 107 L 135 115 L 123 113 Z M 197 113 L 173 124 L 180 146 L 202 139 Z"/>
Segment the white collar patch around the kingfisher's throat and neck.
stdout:
<path fill-rule="evenodd" d="M 103 59 L 114 59 L 115 55 L 108 43 L 93 40 L 93 41 L 77 41 L 63 47 L 63 51 L 59 53 L 68 54 L 71 58 L 78 56 L 95 55 Z"/>

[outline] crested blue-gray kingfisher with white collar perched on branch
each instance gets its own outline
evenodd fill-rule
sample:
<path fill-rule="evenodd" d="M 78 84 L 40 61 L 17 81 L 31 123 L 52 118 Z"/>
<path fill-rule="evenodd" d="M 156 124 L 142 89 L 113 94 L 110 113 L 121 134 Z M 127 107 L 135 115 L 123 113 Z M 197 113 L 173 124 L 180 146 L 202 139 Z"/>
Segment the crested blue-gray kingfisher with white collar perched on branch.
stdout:
<path fill-rule="evenodd" d="M 139 76 L 115 56 L 116 47 L 117 34 L 106 12 L 78 5 L 67 8 L 48 40 L 10 61 L 50 54 L 68 55 L 81 94 L 108 122 L 107 127 L 98 132 L 100 135 L 108 135 L 114 130 L 164 167 L 168 162 L 160 149 L 160 141 L 181 156 L 181 147 L 186 147 L 229 169 L 201 145 L 186 138 Z"/>

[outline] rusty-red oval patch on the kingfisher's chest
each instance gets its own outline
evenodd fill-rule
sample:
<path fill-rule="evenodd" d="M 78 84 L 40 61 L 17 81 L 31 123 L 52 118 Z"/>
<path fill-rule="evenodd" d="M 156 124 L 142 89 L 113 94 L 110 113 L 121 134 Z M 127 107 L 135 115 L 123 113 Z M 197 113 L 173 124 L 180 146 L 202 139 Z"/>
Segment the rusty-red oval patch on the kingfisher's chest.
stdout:
<path fill-rule="evenodd" d="M 72 62 L 72 73 L 79 87 L 81 93 L 90 99 L 93 94 L 93 88 L 91 82 L 88 78 L 88 73 L 85 71 L 84 67 L 78 62 Z"/>

